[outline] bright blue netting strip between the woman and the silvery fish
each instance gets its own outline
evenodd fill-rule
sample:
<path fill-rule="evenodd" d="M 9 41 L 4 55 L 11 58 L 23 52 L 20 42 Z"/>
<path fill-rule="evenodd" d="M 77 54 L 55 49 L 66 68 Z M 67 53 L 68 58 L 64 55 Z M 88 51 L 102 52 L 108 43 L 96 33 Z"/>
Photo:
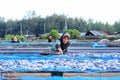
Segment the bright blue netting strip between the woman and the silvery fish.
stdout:
<path fill-rule="evenodd" d="M 94 54 L 94 53 L 93 53 Z M 106 53 L 109 54 L 109 53 Z M 120 55 L 120 53 L 118 53 Z M 112 60 L 118 59 L 120 60 L 120 56 L 93 56 L 93 55 L 86 55 L 86 56 L 69 56 L 69 55 L 40 55 L 39 53 L 18 53 L 18 54 L 0 54 L 0 60 L 54 60 L 56 58 L 67 59 L 67 60 L 95 60 L 95 59 L 102 59 L 102 60 Z"/>

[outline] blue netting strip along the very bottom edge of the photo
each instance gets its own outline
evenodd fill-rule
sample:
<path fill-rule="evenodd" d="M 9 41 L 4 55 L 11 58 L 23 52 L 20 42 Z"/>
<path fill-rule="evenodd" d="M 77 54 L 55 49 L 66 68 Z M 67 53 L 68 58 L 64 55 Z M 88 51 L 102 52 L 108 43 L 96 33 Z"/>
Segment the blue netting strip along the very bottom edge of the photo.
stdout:
<path fill-rule="evenodd" d="M 120 80 L 120 77 L 49 77 L 49 78 L 40 78 L 33 76 L 23 76 L 18 78 L 18 80 Z"/>

